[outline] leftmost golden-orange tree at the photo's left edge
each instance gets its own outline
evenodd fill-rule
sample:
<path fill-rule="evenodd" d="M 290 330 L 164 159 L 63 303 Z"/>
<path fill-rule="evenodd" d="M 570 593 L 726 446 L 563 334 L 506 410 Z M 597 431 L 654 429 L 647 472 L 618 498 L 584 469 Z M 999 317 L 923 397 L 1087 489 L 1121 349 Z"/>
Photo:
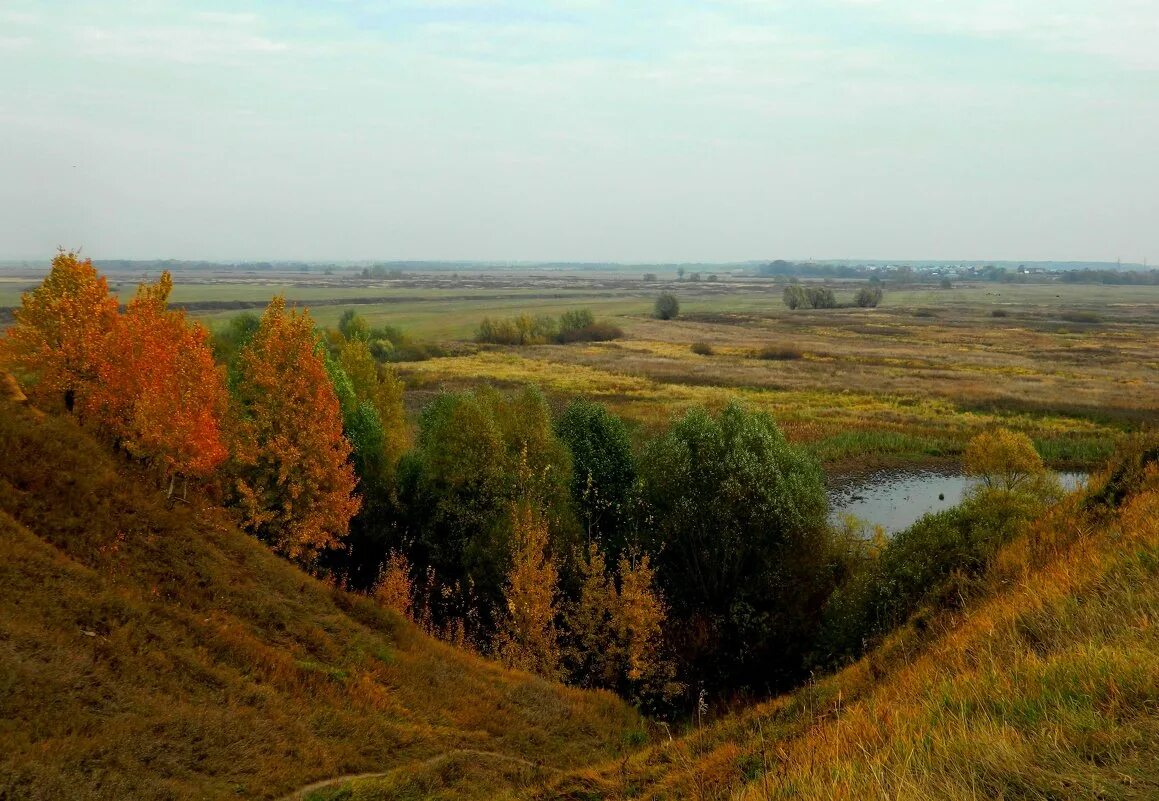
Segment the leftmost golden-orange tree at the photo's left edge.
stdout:
<path fill-rule="evenodd" d="M 0 343 L 0 363 L 34 400 L 64 399 L 71 410 L 97 381 L 104 338 L 117 319 L 117 299 L 89 258 L 60 250 L 44 282 L 24 293 L 16 323 Z"/>

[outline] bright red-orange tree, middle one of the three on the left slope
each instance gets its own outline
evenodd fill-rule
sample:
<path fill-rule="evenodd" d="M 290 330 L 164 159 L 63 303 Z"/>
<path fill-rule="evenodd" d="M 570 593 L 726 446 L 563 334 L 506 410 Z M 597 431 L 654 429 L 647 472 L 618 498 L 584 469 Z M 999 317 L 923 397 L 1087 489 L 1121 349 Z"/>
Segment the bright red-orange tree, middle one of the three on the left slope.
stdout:
<path fill-rule="evenodd" d="M 213 363 L 209 333 L 169 308 L 173 278 L 141 284 L 105 337 L 99 386 L 83 399 L 86 416 L 162 475 L 206 475 L 228 454 L 221 422 L 228 396 Z"/>

